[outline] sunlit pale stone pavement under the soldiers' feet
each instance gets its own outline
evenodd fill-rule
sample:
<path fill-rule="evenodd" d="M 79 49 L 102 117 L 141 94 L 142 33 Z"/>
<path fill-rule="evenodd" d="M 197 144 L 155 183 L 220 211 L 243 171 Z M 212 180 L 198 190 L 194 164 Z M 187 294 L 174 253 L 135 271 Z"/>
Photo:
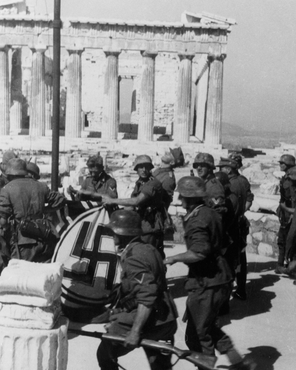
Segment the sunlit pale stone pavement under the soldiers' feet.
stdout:
<path fill-rule="evenodd" d="M 167 256 L 185 251 L 185 246 L 166 248 Z M 293 370 L 296 363 L 296 286 L 288 277 L 276 275 L 276 261 L 271 258 L 248 254 L 248 300 L 230 301 L 230 314 L 223 316 L 220 324 L 231 336 L 237 349 L 258 364 L 257 370 Z M 167 278 L 176 297 L 180 318 L 175 335 L 177 347 L 186 349 L 184 342 L 185 324 L 182 316 L 185 310 L 183 289 L 186 266 L 176 263 L 168 268 Z M 70 324 L 71 327 L 89 331 L 101 331 L 103 325 Z M 69 334 L 68 370 L 99 369 L 96 350 L 99 339 Z M 219 355 L 216 369 L 228 369 L 225 356 Z M 173 357 L 173 361 L 176 358 Z M 119 359 L 126 370 L 148 370 L 148 362 L 142 348 L 138 348 Z M 174 370 L 193 370 L 194 366 L 180 360 Z"/>

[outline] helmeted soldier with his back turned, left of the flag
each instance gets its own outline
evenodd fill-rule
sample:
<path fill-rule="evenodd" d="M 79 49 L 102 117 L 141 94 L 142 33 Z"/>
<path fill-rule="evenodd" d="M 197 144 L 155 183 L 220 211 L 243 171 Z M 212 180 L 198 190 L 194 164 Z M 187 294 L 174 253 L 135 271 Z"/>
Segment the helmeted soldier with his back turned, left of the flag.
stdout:
<path fill-rule="evenodd" d="M 5 175 L 9 183 L 0 192 L 0 225 L 7 241 L 1 246 L 4 264 L 12 258 L 49 262 L 59 235 L 44 219 L 45 203 L 58 209 L 65 206 L 66 198 L 26 177 L 26 162 L 22 159 L 11 159 Z"/>

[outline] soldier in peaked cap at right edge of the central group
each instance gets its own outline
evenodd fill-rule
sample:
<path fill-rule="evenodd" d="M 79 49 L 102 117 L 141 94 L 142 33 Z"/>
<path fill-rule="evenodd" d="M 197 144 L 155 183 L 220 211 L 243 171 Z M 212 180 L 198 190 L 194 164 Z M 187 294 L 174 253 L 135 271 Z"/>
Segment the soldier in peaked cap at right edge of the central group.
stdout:
<path fill-rule="evenodd" d="M 246 293 L 246 283 L 247 283 L 247 256 L 246 256 L 246 239 L 245 239 L 245 227 L 249 228 L 248 220 L 245 220 L 245 209 L 247 203 L 247 192 L 246 188 L 243 185 L 243 182 L 239 179 L 237 175 L 237 169 L 239 164 L 236 160 L 232 158 L 221 158 L 219 163 L 219 167 L 221 168 L 222 172 L 225 172 L 228 175 L 230 181 L 230 190 L 237 196 L 238 199 L 238 223 L 239 228 L 237 238 L 235 240 L 238 241 L 236 245 L 237 251 L 239 253 L 239 265 L 238 271 L 236 272 L 236 282 L 237 282 L 237 289 L 233 294 L 234 298 L 238 298 L 241 300 L 247 299 Z"/>

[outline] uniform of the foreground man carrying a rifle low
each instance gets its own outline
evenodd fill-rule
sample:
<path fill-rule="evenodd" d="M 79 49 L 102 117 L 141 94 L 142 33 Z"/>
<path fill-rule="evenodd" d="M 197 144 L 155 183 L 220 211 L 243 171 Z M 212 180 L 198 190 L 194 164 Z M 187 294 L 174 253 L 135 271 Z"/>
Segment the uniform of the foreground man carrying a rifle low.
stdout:
<path fill-rule="evenodd" d="M 125 335 L 133 326 L 139 304 L 152 308 L 142 337 L 152 340 L 174 340 L 177 330 L 177 313 L 169 296 L 165 271 L 159 253 L 149 244 L 139 240 L 132 241 L 121 256 L 122 301 L 127 312 L 115 314 L 108 333 Z M 126 299 L 125 299 L 126 298 Z M 123 304 L 123 306 L 124 306 Z M 102 370 L 118 370 L 117 358 L 131 349 L 115 342 L 102 340 L 97 358 Z M 144 348 L 151 369 L 171 369 L 171 356 Z"/>

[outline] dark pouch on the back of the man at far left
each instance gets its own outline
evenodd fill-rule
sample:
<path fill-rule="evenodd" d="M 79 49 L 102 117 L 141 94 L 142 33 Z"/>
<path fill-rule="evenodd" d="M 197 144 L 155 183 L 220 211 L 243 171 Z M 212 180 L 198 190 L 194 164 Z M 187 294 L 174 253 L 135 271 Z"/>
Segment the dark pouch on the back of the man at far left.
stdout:
<path fill-rule="evenodd" d="M 49 222 L 44 219 L 37 219 L 34 221 L 22 219 L 18 229 L 23 236 L 41 241 L 46 240 L 52 234 Z"/>

